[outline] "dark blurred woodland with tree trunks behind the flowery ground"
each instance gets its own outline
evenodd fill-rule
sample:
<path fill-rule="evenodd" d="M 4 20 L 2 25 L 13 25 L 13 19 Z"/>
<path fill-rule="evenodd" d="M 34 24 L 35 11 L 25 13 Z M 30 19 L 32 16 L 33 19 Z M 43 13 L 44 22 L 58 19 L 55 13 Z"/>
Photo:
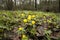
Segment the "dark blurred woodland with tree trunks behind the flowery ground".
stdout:
<path fill-rule="evenodd" d="M 60 0 L 0 0 L 0 10 L 39 10 L 59 12 Z"/>

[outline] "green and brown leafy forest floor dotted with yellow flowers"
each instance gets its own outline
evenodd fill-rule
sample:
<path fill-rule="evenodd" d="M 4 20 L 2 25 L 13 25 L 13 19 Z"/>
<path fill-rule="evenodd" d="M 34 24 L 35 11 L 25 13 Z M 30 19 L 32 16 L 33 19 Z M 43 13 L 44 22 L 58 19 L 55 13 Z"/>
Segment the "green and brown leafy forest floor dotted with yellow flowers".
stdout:
<path fill-rule="evenodd" d="M 60 13 L 0 11 L 1 40 L 60 40 Z"/>

